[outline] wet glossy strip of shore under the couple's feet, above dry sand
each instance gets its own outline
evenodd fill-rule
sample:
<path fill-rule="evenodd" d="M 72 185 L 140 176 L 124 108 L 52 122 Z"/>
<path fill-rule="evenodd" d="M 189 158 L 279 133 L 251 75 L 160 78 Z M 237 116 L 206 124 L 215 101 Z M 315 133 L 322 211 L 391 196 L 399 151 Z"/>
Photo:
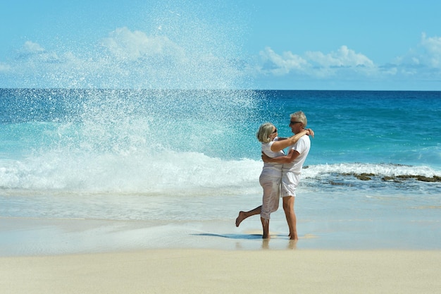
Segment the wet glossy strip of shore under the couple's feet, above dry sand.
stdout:
<path fill-rule="evenodd" d="M 280 212 L 278 212 L 280 214 Z M 235 227 L 213 221 L 116 221 L 1 218 L 0 257 L 99 254 L 133 250 L 441 250 L 439 221 L 300 220 L 299 241 L 285 220 L 271 220 L 271 239 L 258 218 Z"/>

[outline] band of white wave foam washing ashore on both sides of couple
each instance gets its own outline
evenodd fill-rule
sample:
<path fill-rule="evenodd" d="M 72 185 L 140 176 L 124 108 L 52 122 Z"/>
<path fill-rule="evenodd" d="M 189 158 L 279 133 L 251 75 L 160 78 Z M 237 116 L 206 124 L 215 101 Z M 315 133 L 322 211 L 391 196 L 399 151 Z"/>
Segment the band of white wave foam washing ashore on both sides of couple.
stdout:
<path fill-rule="evenodd" d="M 0 187 L 46 192 L 113 192 L 144 195 L 210 195 L 259 192 L 261 161 L 225 160 L 197 152 L 81 153 L 52 150 L 22 161 L 1 161 Z M 319 164 L 307 166 L 302 178 L 310 185 L 345 175 L 371 178 L 441 176 L 428 166 L 397 164 Z M 356 180 L 354 178 L 354 180 Z M 357 180 L 359 181 L 359 180 Z"/>

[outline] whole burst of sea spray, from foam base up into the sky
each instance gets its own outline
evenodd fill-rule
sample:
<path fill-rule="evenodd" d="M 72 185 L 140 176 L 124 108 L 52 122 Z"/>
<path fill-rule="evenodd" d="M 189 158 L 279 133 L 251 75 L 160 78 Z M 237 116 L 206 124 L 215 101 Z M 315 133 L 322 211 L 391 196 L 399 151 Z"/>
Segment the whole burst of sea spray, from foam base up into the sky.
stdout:
<path fill-rule="evenodd" d="M 11 145 L 0 147 L 1 188 L 192 194 L 255 185 L 260 162 L 248 158 L 258 157 L 253 133 L 265 97 L 233 90 L 251 88 L 244 16 L 221 2 L 144 8 L 137 25 L 96 44 L 39 44 L 39 58 L 22 61 L 35 68 L 23 76 L 27 87 L 52 89 L 2 92 Z M 45 62 L 51 71 L 42 72 Z"/>

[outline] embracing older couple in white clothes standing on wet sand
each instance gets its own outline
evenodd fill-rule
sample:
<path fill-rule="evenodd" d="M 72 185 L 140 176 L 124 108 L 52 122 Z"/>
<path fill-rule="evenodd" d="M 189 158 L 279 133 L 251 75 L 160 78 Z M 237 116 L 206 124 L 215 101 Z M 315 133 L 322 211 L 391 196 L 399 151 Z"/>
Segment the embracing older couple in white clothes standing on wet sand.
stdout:
<path fill-rule="evenodd" d="M 294 213 L 295 190 L 299 185 L 302 166 L 311 147 L 309 135 L 314 135 L 313 130 L 305 129 L 306 123 L 306 116 L 302 111 L 291 114 L 290 128 L 294 135 L 289 138 L 278 137 L 277 128 L 271 123 L 263 123 L 260 126 L 256 137 L 262 143 L 264 162 L 259 177 L 263 188 L 262 205 L 249 212 L 239 212 L 236 226 L 249 216 L 260 214 L 262 238 L 270 238 L 270 214 L 278 209 L 280 196 L 282 196 L 283 210 L 290 228 L 290 239 L 298 240 L 297 220 Z M 287 155 L 283 152 L 286 147 L 290 147 Z"/>

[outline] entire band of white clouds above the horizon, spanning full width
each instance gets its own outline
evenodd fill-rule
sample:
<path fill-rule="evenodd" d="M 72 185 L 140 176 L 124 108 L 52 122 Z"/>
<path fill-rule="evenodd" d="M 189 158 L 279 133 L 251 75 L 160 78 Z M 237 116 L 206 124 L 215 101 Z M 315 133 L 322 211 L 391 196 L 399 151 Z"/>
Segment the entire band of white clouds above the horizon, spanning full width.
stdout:
<path fill-rule="evenodd" d="M 303 54 L 278 53 L 266 47 L 259 52 L 258 60 L 246 63 L 225 57 L 228 54 L 217 50 L 217 45 L 198 40 L 178 44 L 166 36 L 120 27 L 101 39 L 101 47 L 70 50 L 61 44 L 48 50 L 27 41 L 15 59 L 0 63 L 0 80 L 12 81 L 8 87 L 192 89 L 234 87 L 235 81 L 240 84 L 240 79 L 249 76 L 281 81 L 279 85 L 285 82 L 286 87 L 295 80 L 347 84 L 359 80 L 366 85 L 372 81 L 407 85 L 417 80 L 438 83 L 441 80 L 441 37 L 427 37 L 424 33 L 409 52 L 380 65 L 347 46 Z"/>

